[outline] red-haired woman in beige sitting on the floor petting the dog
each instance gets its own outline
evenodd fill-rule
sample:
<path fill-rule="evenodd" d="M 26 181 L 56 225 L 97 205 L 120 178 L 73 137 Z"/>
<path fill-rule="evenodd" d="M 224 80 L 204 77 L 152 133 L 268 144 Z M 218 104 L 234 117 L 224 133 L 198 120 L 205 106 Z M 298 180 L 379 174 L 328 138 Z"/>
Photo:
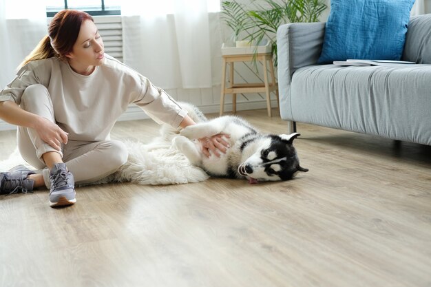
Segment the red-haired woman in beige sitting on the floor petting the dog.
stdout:
<path fill-rule="evenodd" d="M 21 156 L 41 173 L 23 166 L 0 173 L 0 193 L 50 189 L 50 206 L 74 204 L 74 182 L 88 183 L 114 173 L 127 161 L 123 142 L 110 140 L 117 118 L 130 103 L 158 123 L 195 123 L 162 89 L 104 54 L 92 17 L 63 10 L 48 36 L 21 64 L 16 78 L 0 92 L 0 118 L 17 125 Z M 218 155 L 221 135 L 201 139 L 202 150 Z"/>

